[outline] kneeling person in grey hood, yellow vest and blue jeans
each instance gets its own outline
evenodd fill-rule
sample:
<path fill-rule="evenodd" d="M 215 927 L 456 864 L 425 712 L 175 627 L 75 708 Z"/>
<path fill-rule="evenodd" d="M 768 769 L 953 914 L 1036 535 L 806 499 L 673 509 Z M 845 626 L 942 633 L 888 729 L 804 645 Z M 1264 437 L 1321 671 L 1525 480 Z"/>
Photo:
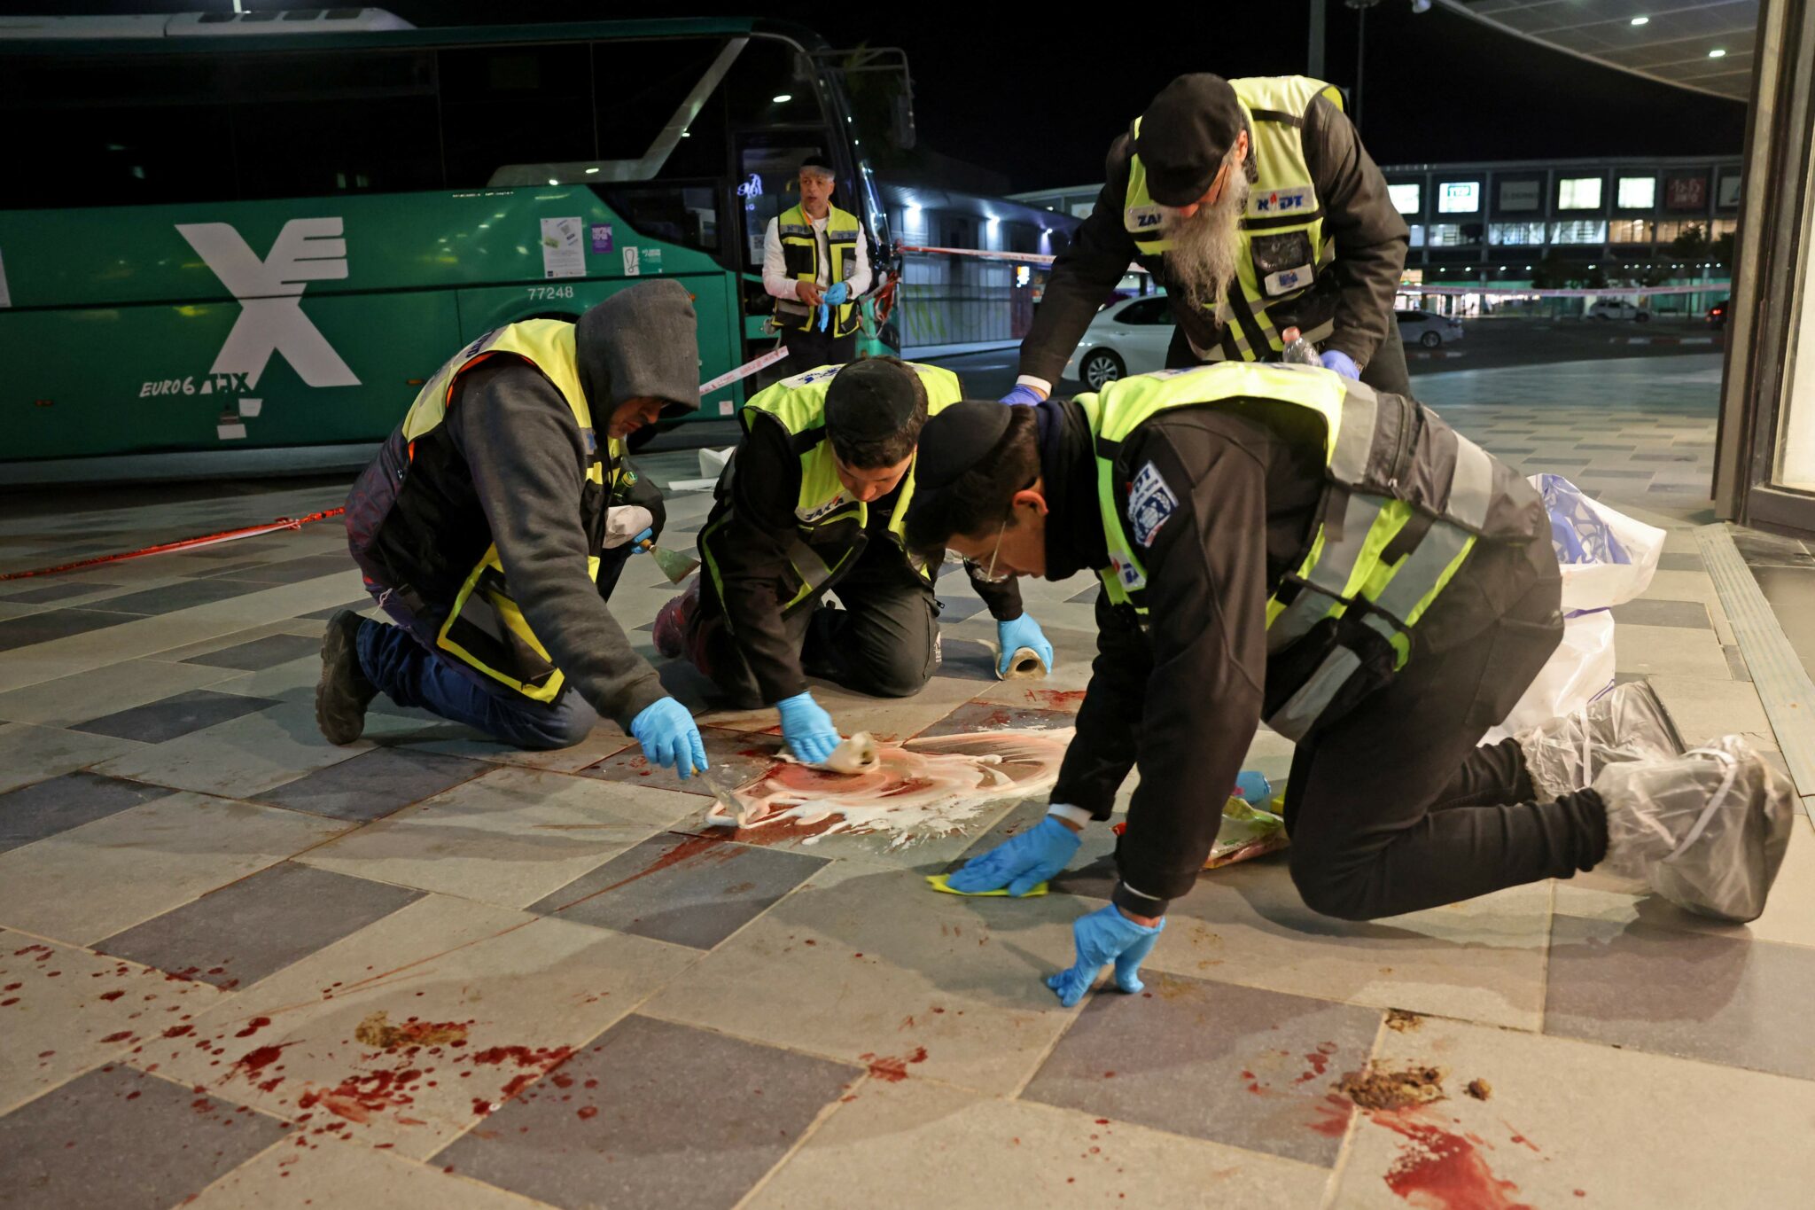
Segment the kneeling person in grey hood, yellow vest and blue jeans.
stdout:
<path fill-rule="evenodd" d="M 681 776 L 699 729 L 606 610 L 661 495 L 624 437 L 699 403 L 693 305 L 630 287 L 579 323 L 486 332 L 436 372 L 347 499 L 367 588 L 396 626 L 343 610 L 321 642 L 316 722 L 336 744 L 385 693 L 519 747 L 566 747 L 603 715 Z"/>

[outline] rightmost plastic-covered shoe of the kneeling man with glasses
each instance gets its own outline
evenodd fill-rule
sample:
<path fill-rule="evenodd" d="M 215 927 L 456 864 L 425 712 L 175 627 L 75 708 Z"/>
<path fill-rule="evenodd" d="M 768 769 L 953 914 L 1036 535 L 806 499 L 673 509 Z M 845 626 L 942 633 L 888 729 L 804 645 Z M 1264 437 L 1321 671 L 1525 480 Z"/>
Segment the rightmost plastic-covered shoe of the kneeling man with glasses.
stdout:
<path fill-rule="evenodd" d="M 1601 865 L 1610 873 L 1715 920 L 1744 923 L 1764 911 L 1797 796 L 1746 740 L 1610 764 L 1594 789 L 1606 807 Z"/>

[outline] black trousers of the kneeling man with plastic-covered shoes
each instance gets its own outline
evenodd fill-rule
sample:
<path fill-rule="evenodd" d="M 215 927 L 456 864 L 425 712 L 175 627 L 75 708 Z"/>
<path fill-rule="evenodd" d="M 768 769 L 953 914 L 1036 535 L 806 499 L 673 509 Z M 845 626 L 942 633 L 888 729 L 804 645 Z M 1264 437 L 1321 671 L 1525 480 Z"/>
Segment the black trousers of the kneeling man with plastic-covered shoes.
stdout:
<path fill-rule="evenodd" d="M 1467 573 L 1467 568 L 1465 568 Z M 1468 584 L 1447 604 L 1468 608 Z M 1474 640 L 1414 653 L 1349 715 L 1320 724 L 1292 758 L 1285 822 L 1292 882 L 1327 916 L 1374 920 L 1456 903 L 1606 854 L 1594 791 L 1532 802 L 1517 742 L 1477 747 L 1555 649 L 1555 579 L 1541 579 Z"/>

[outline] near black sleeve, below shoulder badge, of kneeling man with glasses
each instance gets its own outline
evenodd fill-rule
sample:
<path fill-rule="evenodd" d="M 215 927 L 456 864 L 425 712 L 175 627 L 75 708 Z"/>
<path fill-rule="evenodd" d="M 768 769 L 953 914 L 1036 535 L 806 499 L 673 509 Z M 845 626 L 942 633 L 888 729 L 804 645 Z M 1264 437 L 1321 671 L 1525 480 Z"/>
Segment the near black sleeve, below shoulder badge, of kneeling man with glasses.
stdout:
<path fill-rule="evenodd" d="M 1153 662 L 1140 786 L 1116 845 L 1114 902 L 1143 916 L 1162 914 L 1203 869 L 1267 678 L 1265 466 L 1229 437 L 1180 441 L 1189 444 L 1174 444 L 1163 423 L 1145 424 L 1118 457 L 1127 481 L 1151 464 L 1176 497 L 1143 551 Z"/>

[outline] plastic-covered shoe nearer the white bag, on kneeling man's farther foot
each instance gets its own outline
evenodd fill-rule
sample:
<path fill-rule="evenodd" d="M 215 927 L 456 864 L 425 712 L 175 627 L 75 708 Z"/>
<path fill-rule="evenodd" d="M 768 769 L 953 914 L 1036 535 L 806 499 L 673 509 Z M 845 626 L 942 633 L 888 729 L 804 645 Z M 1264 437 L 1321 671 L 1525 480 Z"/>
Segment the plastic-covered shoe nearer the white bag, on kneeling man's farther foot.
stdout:
<path fill-rule="evenodd" d="M 1632 680 L 1581 709 L 1514 737 L 1539 802 L 1594 786 L 1619 760 L 1670 760 L 1683 737 L 1650 684 Z"/>

